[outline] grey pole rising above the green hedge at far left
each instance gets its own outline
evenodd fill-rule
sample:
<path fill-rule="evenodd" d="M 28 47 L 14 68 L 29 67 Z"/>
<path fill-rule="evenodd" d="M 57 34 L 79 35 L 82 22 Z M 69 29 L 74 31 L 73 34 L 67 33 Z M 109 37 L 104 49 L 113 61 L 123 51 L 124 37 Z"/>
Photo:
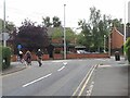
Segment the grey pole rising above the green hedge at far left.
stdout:
<path fill-rule="evenodd" d="M 4 33 L 5 33 L 5 0 L 3 1 L 3 46 L 6 47 Z"/>

